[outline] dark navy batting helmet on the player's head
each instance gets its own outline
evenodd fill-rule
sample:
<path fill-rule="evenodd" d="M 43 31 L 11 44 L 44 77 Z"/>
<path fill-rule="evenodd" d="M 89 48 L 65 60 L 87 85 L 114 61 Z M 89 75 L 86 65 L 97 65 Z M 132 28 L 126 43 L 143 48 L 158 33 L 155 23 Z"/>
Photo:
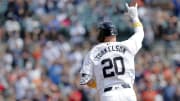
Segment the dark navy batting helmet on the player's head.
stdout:
<path fill-rule="evenodd" d="M 118 34 L 116 27 L 111 21 L 100 22 L 98 26 L 98 30 L 99 30 L 98 40 L 100 42 L 103 42 L 106 36 L 114 36 L 114 35 L 116 36 Z"/>

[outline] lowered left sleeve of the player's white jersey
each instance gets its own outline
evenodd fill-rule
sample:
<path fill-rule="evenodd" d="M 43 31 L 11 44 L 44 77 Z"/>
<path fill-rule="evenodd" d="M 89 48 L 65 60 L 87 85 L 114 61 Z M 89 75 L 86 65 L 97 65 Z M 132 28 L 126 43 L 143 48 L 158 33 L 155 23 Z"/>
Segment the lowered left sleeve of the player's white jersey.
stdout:
<path fill-rule="evenodd" d="M 87 84 L 93 78 L 93 62 L 90 55 L 84 59 L 81 71 L 80 71 L 80 85 Z"/>

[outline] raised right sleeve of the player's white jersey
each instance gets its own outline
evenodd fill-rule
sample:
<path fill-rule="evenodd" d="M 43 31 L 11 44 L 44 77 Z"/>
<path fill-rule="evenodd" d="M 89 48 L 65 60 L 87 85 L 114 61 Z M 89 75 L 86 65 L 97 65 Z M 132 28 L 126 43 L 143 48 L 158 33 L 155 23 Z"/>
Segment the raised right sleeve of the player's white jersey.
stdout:
<path fill-rule="evenodd" d="M 142 41 L 144 39 L 144 30 L 139 20 L 133 21 L 133 27 L 135 29 L 135 33 L 128 40 L 126 40 L 124 44 L 135 55 L 142 47 Z"/>

